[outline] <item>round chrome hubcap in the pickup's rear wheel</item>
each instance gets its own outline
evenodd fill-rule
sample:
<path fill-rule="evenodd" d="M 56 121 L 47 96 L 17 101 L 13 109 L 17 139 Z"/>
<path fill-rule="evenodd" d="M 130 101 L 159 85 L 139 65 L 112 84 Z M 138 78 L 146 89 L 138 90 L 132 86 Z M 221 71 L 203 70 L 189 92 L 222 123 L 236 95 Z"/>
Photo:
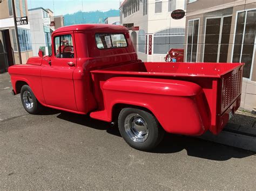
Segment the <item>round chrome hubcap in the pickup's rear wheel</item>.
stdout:
<path fill-rule="evenodd" d="M 124 121 L 124 128 L 130 139 L 136 143 L 145 142 L 149 136 L 149 127 L 139 114 L 128 115 Z"/>

